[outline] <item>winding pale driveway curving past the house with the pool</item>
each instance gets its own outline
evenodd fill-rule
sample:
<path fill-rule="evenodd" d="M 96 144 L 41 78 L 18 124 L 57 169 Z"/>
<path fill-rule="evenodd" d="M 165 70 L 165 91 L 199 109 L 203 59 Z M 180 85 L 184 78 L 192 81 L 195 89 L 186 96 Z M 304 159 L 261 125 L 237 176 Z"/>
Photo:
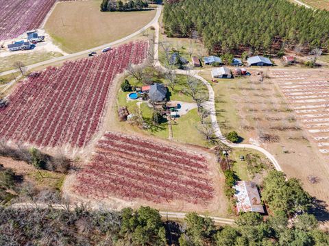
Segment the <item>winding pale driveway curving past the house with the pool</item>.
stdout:
<path fill-rule="evenodd" d="M 154 64 L 158 69 L 160 69 L 162 71 L 166 71 L 167 69 L 164 68 L 164 66 L 162 66 L 162 64 L 160 64 L 160 61 L 159 61 L 159 52 L 158 52 L 158 50 L 159 50 L 159 32 L 160 32 L 159 23 L 156 23 L 154 25 L 154 27 L 156 29 L 155 44 L 154 44 Z M 209 84 L 209 82 L 206 81 L 206 79 L 197 75 L 198 72 L 199 71 L 175 70 L 175 73 L 182 74 L 182 75 L 189 74 L 189 75 L 195 77 L 196 79 L 201 80 L 207 86 L 208 93 L 209 93 L 209 99 L 206 102 L 206 106 L 207 106 L 208 110 L 210 111 L 210 119 L 212 122 L 212 126 L 214 127 L 215 134 L 216 134 L 217 138 L 219 138 L 221 143 L 228 145 L 229 147 L 232 147 L 232 148 L 239 148 L 239 149 L 246 148 L 246 149 L 255 149 L 257 151 L 260 151 L 272 162 L 272 164 L 276 168 L 276 170 L 282 171 L 282 168 L 280 167 L 280 164 L 278 163 L 276 158 L 271 153 L 269 153 L 269 151 L 267 151 L 266 149 L 263 149 L 262 147 L 259 147 L 257 145 L 234 144 L 234 143 L 230 143 L 230 142 L 228 142 L 228 140 L 226 140 L 226 138 L 221 133 L 221 129 L 220 129 L 218 121 L 217 121 L 216 108 L 215 108 L 215 92 L 212 89 L 212 86 Z"/>

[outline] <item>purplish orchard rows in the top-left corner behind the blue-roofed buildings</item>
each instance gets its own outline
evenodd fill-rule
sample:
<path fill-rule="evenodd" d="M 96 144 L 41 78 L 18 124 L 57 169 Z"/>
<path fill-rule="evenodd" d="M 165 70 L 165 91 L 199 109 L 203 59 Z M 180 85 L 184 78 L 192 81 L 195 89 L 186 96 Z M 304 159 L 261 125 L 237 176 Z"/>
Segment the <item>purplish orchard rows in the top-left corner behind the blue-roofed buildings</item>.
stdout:
<path fill-rule="evenodd" d="M 40 26 L 56 0 L 0 0 L 0 40 Z"/>

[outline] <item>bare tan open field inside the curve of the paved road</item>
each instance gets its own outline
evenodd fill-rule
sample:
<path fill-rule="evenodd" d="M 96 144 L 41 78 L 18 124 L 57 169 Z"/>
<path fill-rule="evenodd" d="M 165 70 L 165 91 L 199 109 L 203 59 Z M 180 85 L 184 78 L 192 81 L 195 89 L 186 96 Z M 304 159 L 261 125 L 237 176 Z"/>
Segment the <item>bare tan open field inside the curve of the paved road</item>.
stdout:
<path fill-rule="evenodd" d="M 100 0 L 57 3 L 45 29 L 56 45 L 74 53 L 132 34 L 156 15 L 156 10 L 100 12 L 100 4 Z"/>

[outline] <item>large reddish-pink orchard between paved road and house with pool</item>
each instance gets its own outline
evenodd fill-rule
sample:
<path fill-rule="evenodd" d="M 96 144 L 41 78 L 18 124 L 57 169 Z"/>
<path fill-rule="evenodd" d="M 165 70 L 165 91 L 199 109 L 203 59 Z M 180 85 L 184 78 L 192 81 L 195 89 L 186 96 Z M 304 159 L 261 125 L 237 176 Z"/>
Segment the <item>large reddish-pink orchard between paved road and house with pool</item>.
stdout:
<path fill-rule="evenodd" d="M 0 109 L 3 140 L 39 147 L 84 147 L 100 127 L 113 79 L 147 56 L 148 42 L 130 42 L 94 58 L 32 73 Z"/>

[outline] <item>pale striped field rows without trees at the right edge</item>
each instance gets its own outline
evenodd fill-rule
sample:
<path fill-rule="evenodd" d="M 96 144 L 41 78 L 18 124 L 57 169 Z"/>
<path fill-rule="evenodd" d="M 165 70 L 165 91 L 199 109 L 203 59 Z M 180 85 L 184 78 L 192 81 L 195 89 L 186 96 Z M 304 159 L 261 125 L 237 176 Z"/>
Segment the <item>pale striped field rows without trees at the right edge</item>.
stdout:
<path fill-rule="evenodd" d="M 271 77 L 280 86 L 297 117 L 321 153 L 329 153 L 329 73 L 278 71 Z"/>

